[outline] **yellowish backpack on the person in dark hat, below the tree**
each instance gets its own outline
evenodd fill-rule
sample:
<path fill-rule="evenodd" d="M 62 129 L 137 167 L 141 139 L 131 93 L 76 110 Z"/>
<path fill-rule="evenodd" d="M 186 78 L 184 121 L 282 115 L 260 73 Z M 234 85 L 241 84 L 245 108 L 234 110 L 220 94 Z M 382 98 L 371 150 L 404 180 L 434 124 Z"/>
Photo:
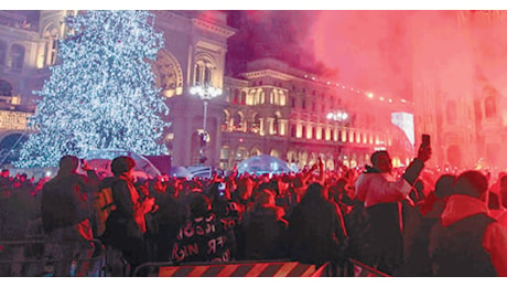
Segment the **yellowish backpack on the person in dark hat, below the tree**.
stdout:
<path fill-rule="evenodd" d="M 116 210 L 111 187 L 99 189 L 93 200 L 93 209 L 96 223 L 96 236 L 100 237 L 106 231 L 106 221 L 109 219 L 110 213 Z"/>

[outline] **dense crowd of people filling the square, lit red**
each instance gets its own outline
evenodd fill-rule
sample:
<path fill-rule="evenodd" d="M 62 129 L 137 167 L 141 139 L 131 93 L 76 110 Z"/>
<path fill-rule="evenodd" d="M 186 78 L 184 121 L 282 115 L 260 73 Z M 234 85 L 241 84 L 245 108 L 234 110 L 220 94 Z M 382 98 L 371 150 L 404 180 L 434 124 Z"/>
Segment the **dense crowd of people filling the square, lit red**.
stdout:
<path fill-rule="evenodd" d="M 507 276 L 507 174 L 425 172 L 430 158 L 421 146 L 404 169 L 376 151 L 364 169 L 325 171 L 319 160 L 298 173 L 141 181 L 132 158 L 114 159 L 114 176 L 99 178 L 65 156 L 58 173 L 39 183 L 2 172 L 0 241 L 39 228 L 51 246 L 45 255 L 63 258 L 54 276 L 86 262 L 94 238 L 116 251 L 110 276 L 148 262 L 291 259 L 339 269 L 347 258 L 391 276 Z M 23 252 L 4 246 L 0 257 Z M 1 276 L 22 269 L 0 265 Z"/>

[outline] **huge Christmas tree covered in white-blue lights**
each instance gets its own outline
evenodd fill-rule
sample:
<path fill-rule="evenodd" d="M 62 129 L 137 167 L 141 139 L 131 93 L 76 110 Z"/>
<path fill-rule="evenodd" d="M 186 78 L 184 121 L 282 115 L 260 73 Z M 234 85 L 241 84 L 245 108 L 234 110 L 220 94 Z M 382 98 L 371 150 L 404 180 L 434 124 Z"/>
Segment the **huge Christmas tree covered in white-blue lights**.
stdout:
<path fill-rule="evenodd" d="M 155 86 L 151 63 L 163 46 L 148 11 L 94 10 L 65 19 L 58 64 L 42 91 L 33 128 L 22 146 L 21 168 L 57 167 L 64 155 L 125 149 L 163 155 L 159 142 L 169 108 Z"/>

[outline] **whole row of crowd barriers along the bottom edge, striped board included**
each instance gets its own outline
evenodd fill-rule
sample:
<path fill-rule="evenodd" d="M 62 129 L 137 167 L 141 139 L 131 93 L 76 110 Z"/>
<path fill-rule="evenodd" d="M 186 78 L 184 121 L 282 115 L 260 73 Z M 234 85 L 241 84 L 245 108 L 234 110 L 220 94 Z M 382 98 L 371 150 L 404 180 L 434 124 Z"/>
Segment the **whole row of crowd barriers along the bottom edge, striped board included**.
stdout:
<path fill-rule="evenodd" d="M 95 251 L 90 258 L 74 261 L 88 262 L 90 269 L 86 276 L 109 276 L 108 259 L 120 258 L 119 251 L 106 247 L 99 240 L 93 240 Z M 43 240 L 0 241 L 0 277 L 42 277 L 52 276 L 51 266 L 58 258 L 47 257 L 48 246 Z M 6 257 L 8 257 L 6 259 Z M 111 262 L 112 263 L 112 262 Z M 114 264 L 114 263 L 112 263 Z M 119 263 L 119 275 L 130 274 L 128 264 Z M 338 273 L 331 263 L 322 266 L 291 261 L 238 261 L 228 263 L 188 263 L 174 265 L 172 262 L 150 262 L 137 266 L 131 276 L 139 277 L 390 277 L 376 268 L 348 258 Z M 76 276 L 71 272 L 69 276 Z"/>

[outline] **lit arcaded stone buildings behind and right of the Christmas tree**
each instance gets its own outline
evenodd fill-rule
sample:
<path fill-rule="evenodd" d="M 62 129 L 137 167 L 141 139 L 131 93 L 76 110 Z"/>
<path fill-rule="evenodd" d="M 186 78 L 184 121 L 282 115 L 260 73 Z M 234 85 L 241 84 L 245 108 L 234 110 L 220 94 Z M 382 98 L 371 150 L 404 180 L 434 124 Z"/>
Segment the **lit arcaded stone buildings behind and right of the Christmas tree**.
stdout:
<path fill-rule="evenodd" d="M 50 77 L 56 40 L 65 34 L 62 20 L 76 12 L 39 11 L 36 23 L 30 23 L 25 15 L 0 11 L 0 142 L 6 152 L 30 132 L 25 125 L 35 110 L 32 91 Z M 209 135 L 205 164 L 220 169 L 260 153 L 299 168 L 322 157 L 328 169 L 369 163 L 376 149 L 390 150 L 396 166 L 413 157 L 413 142 L 391 123 L 392 113 L 412 113 L 412 103 L 374 98 L 373 93 L 273 59 L 252 61 L 244 73 L 226 75 L 227 40 L 237 31 L 227 25 L 225 12 L 152 12 L 155 29 L 165 38 L 153 72 L 170 107 L 164 120 L 171 127 L 162 140 L 173 166 L 198 163 L 204 124 Z M 190 93 L 199 85 L 223 91 L 208 102 L 206 116 L 203 99 Z M 330 113 L 342 114 L 328 118 Z"/>

